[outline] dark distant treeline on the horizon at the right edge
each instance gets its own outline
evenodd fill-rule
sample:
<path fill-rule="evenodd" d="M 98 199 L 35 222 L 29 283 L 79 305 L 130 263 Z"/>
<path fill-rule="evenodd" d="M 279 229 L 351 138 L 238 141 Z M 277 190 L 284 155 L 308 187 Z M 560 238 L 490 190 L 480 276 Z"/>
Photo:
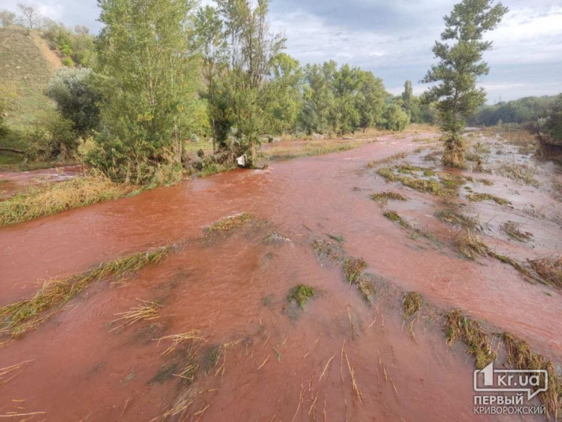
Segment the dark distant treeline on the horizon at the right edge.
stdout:
<path fill-rule="evenodd" d="M 471 126 L 494 126 L 496 124 L 525 124 L 546 117 L 558 96 L 528 96 L 513 101 L 502 101 L 493 106 L 484 106 L 468 119 Z"/>

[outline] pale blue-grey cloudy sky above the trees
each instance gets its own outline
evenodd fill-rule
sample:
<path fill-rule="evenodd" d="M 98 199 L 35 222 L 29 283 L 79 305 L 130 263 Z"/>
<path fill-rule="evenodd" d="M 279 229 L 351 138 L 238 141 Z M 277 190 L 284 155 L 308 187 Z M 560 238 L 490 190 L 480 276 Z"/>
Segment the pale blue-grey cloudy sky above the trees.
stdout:
<path fill-rule="evenodd" d="M 25 0 L 3 0 L 15 11 Z M 96 0 L 28 0 L 44 15 L 97 32 Z M 288 39 L 287 52 L 301 64 L 334 59 L 382 77 L 393 94 L 411 79 L 414 93 L 431 63 L 431 47 L 443 30 L 442 17 L 455 0 L 273 0 L 270 22 Z M 510 8 L 490 34 L 485 53 L 490 75 L 480 84 L 488 102 L 562 92 L 562 3 L 560 0 L 505 0 Z"/>

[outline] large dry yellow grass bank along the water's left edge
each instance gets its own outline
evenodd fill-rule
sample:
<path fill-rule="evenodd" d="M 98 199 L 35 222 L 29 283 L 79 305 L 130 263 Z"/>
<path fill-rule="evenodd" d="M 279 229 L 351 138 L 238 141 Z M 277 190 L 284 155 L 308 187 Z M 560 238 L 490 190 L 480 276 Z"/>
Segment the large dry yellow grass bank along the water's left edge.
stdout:
<path fill-rule="evenodd" d="M 27 191 L 0 201 L 0 226 L 120 198 L 127 191 L 127 186 L 115 184 L 101 174 L 75 177 L 44 187 L 30 186 Z"/>

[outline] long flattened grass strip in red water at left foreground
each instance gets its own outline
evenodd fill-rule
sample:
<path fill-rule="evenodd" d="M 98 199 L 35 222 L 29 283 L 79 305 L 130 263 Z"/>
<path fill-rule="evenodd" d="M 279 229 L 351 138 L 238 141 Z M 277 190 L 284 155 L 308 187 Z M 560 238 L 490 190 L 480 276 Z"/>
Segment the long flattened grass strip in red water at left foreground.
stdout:
<path fill-rule="evenodd" d="M 89 284 L 110 276 L 125 276 L 148 264 L 160 264 L 171 250 L 171 246 L 166 246 L 139 252 L 115 261 L 103 262 L 96 269 L 83 274 L 72 275 L 63 280 L 46 281 L 32 298 L 0 307 L 0 334 L 11 333 L 13 337 L 17 337 L 25 331 L 37 328 Z M 50 312 L 43 314 L 48 310 Z"/>

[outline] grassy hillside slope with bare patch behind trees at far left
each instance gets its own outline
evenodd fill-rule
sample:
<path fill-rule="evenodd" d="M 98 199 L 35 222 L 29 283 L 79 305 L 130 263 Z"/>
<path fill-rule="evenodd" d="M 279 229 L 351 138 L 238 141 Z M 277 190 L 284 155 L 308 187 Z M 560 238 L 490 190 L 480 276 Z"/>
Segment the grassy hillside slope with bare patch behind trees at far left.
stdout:
<path fill-rule="evenodd" d="M 7 105 L 10 133 L 0 146 L 24 148 L 20 134 L 34 122 L 45 119 L 55 104 L 45 94 L 60 60 L 44 39 L 20 27 L 0 30 L 0 96 Z M 0 164 L 13 164 L 21 155 L 0 154 Z"/>

